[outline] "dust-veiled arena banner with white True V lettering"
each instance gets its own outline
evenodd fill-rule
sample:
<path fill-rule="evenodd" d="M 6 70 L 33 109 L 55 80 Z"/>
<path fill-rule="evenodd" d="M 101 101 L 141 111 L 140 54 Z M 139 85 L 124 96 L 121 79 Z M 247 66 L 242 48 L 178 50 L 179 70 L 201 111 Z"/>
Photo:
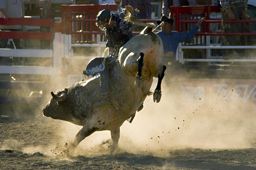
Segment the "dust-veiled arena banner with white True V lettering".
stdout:
<path fill-rule="evenodd" d="M 240 79 L 180 79 L 184 105 L 225 100 L 242 109 L 256 109 L 256 81 Z"/>

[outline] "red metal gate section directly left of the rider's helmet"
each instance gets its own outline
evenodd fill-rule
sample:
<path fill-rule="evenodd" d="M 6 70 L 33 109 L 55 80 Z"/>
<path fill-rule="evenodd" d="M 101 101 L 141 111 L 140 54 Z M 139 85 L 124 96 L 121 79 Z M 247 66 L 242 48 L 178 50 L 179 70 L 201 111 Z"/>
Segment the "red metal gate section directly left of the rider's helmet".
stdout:
<path fill-rule="evenodd" d="M 96 25 L 98 12 L 117 11 L 118 5 L 61 5 L 64 34 L 72 35 L 72 43 L 97 43 L 96 34 L 104 34 Z"/>

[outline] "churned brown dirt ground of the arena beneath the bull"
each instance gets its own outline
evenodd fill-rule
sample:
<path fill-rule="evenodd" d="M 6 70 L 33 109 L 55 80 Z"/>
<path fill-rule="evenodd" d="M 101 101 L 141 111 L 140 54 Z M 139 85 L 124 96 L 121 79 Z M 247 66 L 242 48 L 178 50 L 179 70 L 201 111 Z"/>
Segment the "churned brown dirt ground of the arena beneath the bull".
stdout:
<path fill-rule="evenodd" d="M 133 143 L 125 135 L 121 135 L 118 152 L 110 154 L 110 144 L 104 144 L 103 141 L 104 135 L 107 136 L 106 139 L 110 138 L 110 135 L 100 133 L 85 139 L 87 143 L 79 144 L 80 147 L 73 155 L 65 153 L 65 145 L 72 141 L 76 134 L 73 130 L 78 132 L 80 128 L 69 122 L 43 117 L 42 114 L 31 117 L 1 115 L 0 169 L 256 169 L 254 137 L 249 139 L 251 145 L 247 146 L 248 148 L 232 148 L 231 145 L 229 149 L 202 149 L 194 147 L 193 144 L 192 147 L 175 147 L 175 142 L 174 147 L 170 147 L 164 142 L 161 144 L 161 139 L 164 140 L 166 136 L 152 136 L 147 140 L 154 142 L 150 144 L 146 141 L 149 142 L 146 144 L 149 149 L 138 146 L 140 149 L 136 151 L 136 142 Z M 143 129 L 141 133 L 143 134 Z M 233 137 L 231 141 L 239 141 L 238 136 Z M 121 140 L 122 138 L 125 139 Z M 128 142 L 125 143 L 125 140 Z"/>

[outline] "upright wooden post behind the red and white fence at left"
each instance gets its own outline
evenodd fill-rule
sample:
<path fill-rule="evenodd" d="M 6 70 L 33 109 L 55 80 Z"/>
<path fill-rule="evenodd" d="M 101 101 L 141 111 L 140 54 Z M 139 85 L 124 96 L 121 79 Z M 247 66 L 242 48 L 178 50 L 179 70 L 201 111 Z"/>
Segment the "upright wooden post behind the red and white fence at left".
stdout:
<path fill-rule="evenodd" d="M 54 8 L 51 8 L 51 1 L 42 1 L 42 8 L 40 8 L 40 18 L 54 18 Z M 40 32 L 50 32 L 50 27 L 40 27 Z M 52 49 L 53 42 L 50 40 L 41 40 L 41 49 Z"/>

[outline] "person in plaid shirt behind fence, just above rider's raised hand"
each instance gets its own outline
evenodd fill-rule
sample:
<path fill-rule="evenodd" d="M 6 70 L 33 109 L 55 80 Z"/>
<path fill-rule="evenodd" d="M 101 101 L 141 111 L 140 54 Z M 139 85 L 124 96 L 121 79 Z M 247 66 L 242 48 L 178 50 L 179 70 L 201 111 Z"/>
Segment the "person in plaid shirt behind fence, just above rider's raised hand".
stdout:
<path fill-rule="evenodd" d="M 125 11 L 125 6 L 131 5 L 135 9 L 138 9 L 137 18 L 139 19 L 151 19 L 152 7 L 150 0 L 122 0 L 121 10 Z"/>

